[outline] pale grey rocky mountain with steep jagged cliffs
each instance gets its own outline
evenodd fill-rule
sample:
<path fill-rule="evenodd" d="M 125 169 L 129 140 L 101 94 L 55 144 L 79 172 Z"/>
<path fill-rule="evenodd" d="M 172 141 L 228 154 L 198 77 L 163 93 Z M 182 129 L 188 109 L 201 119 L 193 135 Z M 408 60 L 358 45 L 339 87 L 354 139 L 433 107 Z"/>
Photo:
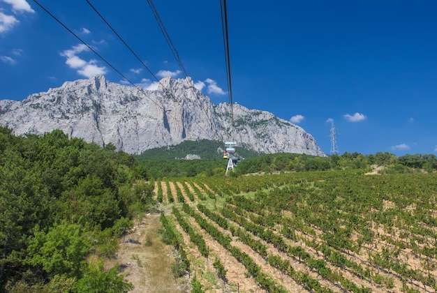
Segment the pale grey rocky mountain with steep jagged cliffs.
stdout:
<path fill-rule="evenodd" d="M 127 153 L 179 144 L 184 140 L 229 141 L 261 153 L 325 156 L 304 129 L 274 114 L 232 105 L 214 105 L 190 77 L 160 81 L 156 91 L 108 82 L 97 75 L 65 82 L 22 101 L 0 100 L 0 124 L 16 135 L 61 129 L 101 146 L 112 143 Z"/>

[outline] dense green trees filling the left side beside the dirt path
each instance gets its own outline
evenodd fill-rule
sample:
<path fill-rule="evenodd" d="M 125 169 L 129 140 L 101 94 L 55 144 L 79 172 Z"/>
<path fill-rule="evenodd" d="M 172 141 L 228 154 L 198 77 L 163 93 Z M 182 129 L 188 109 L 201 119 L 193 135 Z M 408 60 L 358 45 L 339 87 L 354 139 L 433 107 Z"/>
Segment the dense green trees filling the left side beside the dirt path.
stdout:
<path fill-rule="evenodd" d="M 101 149 L 60 130 L 18 137 L 1 127 L 1 292 L 130 290 L 101 259 L 151 209 L 144 179 L 145 168 L 112 145 Z"/>

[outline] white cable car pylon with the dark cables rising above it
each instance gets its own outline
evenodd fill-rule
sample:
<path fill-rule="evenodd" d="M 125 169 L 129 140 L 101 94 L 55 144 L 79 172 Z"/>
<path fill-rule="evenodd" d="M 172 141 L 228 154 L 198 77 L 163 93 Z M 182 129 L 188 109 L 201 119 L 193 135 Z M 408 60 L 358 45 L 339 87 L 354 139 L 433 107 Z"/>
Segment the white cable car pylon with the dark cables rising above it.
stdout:
<path fill-rule="evenodd" d="M 221 28 L 223 31 L 223 44 L 225 49 L 225 61 L 226 61 L 226 75 L 228 77 L 228 89 L 229 89 L 229 111 L 230 111 L 230 136 L 232 141 L 225 142 L 225 151 L 223 152 L 223 159 L 228 159 L 228 166 L 226 167 L 225 176 L 228 175 L 228 171 L 234 171 L 234 165 L 237 164 L 238 158 L 235 156 L 235 147 L 237 142 L 234 140 L 234 110 L 232 109 L 232 84 L 230 82 L 230 58 L 229 58 L 229 38 L 228 38 L 228 13 L 226 10 L 226 0 L 220 1 L 221 7 Z"/>

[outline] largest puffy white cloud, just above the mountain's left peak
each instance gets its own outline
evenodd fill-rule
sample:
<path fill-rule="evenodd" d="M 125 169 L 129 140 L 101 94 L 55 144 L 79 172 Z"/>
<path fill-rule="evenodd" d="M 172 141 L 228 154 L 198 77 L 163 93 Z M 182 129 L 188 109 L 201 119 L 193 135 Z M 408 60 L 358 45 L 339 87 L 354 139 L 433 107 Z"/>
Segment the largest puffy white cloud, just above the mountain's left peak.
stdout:
<path fill-rule="evenodd" d="M 83 75 L 84 77 L 91 77 L 93 75 L 104 75 L 107 73 L 107 68 L 105 66 L 98 66 L 95 59 L 85 61 L 84 59 L 77 56 L 81 52 L 87 52 L 89 48 L 87 45 L 79 44 L 73 46 L 69 50 L 64 50 L 61 52 L 62 57 L 66 57 L 65 63 L 73 69 L 77 69 L 77 73 Z"/>

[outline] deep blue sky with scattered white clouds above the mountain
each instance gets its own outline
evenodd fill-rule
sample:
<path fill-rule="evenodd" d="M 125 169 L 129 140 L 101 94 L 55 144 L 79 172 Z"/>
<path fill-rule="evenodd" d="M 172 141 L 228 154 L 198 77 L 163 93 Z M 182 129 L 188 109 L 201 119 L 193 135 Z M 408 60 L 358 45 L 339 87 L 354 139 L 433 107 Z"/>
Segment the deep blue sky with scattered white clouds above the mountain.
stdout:
<path fill-rule="evenodd" d="M 38 0 L 135 84 L 154 77 L 86 1 Z M 161 78 L 182 78 L 147 1 L 90 1 Z M 155 0 L 184 68 L 228 101 L 220 1 Z M 228 1 L 232 97 L 339 153 L 437 153 L 437 1 Z M 0 0 L 0 99 L 122 77 L 34 1 Z"/>

